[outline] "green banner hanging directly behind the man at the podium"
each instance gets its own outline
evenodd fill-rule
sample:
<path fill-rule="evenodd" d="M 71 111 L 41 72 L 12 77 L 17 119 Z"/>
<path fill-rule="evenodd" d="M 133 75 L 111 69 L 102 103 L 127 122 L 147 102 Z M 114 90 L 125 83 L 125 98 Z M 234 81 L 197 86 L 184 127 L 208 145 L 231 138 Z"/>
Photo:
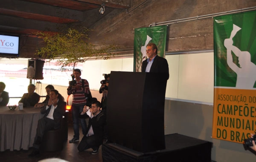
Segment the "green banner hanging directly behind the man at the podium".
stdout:
<path fill-rule="evenodd" d="M 134 71 L 141 71 L 140 63 L 144 56 L 144 60 L 146 59 L 146 45 L 148 43 L 154 43 L 157 45 L 158 56 L 165 56 L 166 33 L 167 26 L 134 29 Z"/>

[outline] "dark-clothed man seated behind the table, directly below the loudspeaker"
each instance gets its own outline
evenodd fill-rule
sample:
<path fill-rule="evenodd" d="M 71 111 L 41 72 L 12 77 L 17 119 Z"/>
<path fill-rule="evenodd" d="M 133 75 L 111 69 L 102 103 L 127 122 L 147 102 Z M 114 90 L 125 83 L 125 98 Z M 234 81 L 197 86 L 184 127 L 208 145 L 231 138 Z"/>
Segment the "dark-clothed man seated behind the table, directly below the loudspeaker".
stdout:
<path fill-rule="evenodd" d="M 23 106 L 35 106 L 40 100 L 39 94 L 35 93 L 35 85 L 29 84 L 28 93 L 23 94 L 19 102 L 23 103 Z"/>

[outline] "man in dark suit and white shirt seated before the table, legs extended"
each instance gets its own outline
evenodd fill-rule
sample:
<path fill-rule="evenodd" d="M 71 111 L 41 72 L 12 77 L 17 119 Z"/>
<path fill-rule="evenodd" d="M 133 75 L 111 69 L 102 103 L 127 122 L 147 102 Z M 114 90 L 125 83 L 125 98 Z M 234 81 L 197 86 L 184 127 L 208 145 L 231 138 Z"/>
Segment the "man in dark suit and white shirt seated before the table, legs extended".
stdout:
<path fill-rule="evenodd" d="M 33 143 L 34 150 L 29 156 L 36 156 L 40 153 L 39 147 L 46 131 L 59 129 L 61 126 L 61 119 L 65 113 L 67 103 L 60 101 L 58 95 L 57 90 L 51 90 L 47 105 L 41 109 L 41 114 L 44 114 L 44 117 L 38 120 L 35 141 Z"/>

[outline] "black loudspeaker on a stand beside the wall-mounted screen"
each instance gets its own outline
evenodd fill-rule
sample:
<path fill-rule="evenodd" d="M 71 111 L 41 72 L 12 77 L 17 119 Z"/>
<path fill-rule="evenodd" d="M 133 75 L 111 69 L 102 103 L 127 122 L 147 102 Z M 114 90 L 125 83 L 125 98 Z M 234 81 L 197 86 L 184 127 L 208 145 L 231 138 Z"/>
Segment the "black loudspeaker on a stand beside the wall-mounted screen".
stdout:
<path fill-rule="evenodd" d="M 43 80 L 44 60 L 29 59 L 27 78 L 33 80 Z"/>

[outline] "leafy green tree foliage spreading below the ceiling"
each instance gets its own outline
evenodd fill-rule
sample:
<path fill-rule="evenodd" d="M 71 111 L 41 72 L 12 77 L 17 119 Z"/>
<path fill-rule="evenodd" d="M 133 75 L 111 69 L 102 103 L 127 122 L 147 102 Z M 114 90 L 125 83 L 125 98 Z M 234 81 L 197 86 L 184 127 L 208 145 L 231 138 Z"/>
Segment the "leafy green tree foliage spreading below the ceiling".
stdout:
<path fill-rule="evenodd" d="M 40 32 L 38 37 L 42 37 L 44 47 L 40 48 L 36 53 L 42 58 L 49 60 L 57 59 L 59 65 L 63 68 L 66 66 L 76 66 L 77 63 L 83 63 L 89 58 L 108 59 L 113 55 L 111 51 L 116 50 L 116 45 L 101 45 L 96 46 L 89 43 L 88 28 L 83 28 L 81 31 L 69 28 L 65 32 L 58 34 L 49 34 Z"/>

